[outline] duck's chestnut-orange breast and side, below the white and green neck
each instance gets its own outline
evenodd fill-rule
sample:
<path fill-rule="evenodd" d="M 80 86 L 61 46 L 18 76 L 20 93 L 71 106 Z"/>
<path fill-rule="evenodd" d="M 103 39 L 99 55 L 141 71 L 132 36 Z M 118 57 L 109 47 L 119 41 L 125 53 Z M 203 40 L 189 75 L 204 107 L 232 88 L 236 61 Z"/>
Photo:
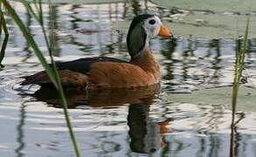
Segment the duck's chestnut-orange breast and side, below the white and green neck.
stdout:
<path fill-rule="evenodd" d="M 151 52 L 146 51 L 130 63 L 94 63 L 88 81 L 89 88 L 154 85 L 160 81 L 160 70 Z"/>

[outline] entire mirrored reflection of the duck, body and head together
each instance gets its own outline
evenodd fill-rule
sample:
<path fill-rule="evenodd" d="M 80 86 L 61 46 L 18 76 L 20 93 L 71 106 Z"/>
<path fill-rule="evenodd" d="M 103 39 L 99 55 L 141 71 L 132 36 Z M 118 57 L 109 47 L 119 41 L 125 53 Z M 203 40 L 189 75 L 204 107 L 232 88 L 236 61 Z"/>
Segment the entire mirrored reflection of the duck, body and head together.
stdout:
<path fill-rule="evenodd" d="M 66 99 L 69 108 L 80 106 L 118 107 L 128 106 L 128 135 L 131 151 L 150 154 L 164 146 L 164 133 L 168 122 L 157 123 L 149 118 L 149 107 L 153 104 L 156 94 L 160 92 L 160 85 L 152 85 L 136 89 L 116 89 L 100 91 L 66 90 Z M 60 107 L 56 91 L 41 88 L 33 96 L 45 101 L 50 106 Z"/>

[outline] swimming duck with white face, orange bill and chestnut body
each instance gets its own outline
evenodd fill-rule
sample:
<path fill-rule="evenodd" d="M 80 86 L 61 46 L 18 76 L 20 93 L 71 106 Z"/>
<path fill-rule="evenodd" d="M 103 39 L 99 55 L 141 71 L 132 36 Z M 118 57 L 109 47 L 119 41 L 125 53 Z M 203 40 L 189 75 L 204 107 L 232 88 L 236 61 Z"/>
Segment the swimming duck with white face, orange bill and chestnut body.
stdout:
<path fill-rule="evenodd" d="M 159 17 L 153 14 L 136 16 L 128 29 L 129 61 L 118 58 L 94 57 L 57 62 L 64 88 L 133 88 L 159 84 L 160 67 L 149 48 L 156 36 L 173 38 Z M 53 86 L 45 71 L 24 76 L 21 85 Z"/>

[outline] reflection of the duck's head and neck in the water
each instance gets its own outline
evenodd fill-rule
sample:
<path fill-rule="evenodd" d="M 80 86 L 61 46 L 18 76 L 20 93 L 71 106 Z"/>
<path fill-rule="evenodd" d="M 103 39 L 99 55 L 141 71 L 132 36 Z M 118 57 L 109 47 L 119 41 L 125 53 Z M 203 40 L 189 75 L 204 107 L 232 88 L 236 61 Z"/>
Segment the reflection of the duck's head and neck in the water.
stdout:
<path fill-rule="evenodd" d="M 165 146 L 162 134 L 167 133 L 168 122 L 156 123 L 149 118 L 149 107 L 152 99 L 140 104 L 132 104 L 128 109 L 128 134 L 130 148 L 133 152 L 152 154 Z"/>

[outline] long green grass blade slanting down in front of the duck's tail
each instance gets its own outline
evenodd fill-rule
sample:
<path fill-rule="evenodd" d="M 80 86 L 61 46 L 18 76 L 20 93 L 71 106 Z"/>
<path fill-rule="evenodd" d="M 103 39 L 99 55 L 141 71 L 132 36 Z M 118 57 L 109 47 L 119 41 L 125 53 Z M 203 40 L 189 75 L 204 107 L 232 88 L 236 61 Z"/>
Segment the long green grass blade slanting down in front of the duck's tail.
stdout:
<path fill-rule="evenodd" d="M 47 44 L 47 46 L 48 46 L 48 49 L 50 50 L 49 53 L 50 53 L 50 57 L 51 57 L 51 60 L 52 60 L 52 63 L 53 63 L 53 70 L 50 67 L 50 65 L 47 64 L 44 56 L 42 55 L 42 52 L 38 48 L 38 44 L 36 44 L 36 42 L 34 41 L 34 39 L 31 36 L 31 34 L 27 30 L 27 28 L 24 26 L 24 23 L 22 22 L 22 20 L 17 16 L 16 11 L 12 9 L 10 4 L 7 3 L 6 0 L 2 0 L 2 3 L 4 5 L 4 7 L 8 10 L 8 12 L 10 14 L 10 17 L 12 17 L 12 19 L 17 23 L 17 25 L 19 26 L 21 31 L 24 33 L 24 37 L 31 44 L 31 48 L 35 51 L 35 53 L 38 56 L 41 64 L 45 68 L 45 72 L 47 73 L 48 77 L 52 80 L 52 83 L 53 83 L 53 85 L 55 85 L 56 90 L 59 92 L 61 105 L 63 107 L 65 118 L 66 118 L 66 126 L 69 129 L 70 137 L 73 141 L 73 147 L 75 149 L 76 156 L 80 157 L 80 148 L 78 146 L 78 143 L 77 143 L 77 141 L 75 139 L 75 136 L 74 136 L 74 133 L 73 133 L 73 127 L 71 125 L 69 114 L 67 112 L 67 103 L 66 103 L 65 94 L 64 94 L 64 91 L 63 91 L 63 88 L 62 88 L 62 85 L 61 85 L 61 81 L 60 81 L 60 78 L 59 78 L 59 73 L 57 71 L 56 65 L 54 64 L 55 62 L 54 62 L 54 59 L 52 57 L 52 51 L 51 51 L 49 43 Z M 40 6 L 40 11 L 42 11 L 41 6 Z M 39 14 L 41 14 L 41 13 L 39 13 Z M 43 19 L 40 19 L 40 18 L 42 18 L 42 16 L 39 16 L 38 18 L 39 18 L 39 20 L 41 20 L 41 23 L 39 23 L 39 24 L 44 24 Z M 42 28 L 45 28 L 45 27 L 43 26 Z M 44 35 L 46 36 L 45 31 L 44 31 Z M 45 39 L 48 41 L 47 37 L 45 37 Z"/>

